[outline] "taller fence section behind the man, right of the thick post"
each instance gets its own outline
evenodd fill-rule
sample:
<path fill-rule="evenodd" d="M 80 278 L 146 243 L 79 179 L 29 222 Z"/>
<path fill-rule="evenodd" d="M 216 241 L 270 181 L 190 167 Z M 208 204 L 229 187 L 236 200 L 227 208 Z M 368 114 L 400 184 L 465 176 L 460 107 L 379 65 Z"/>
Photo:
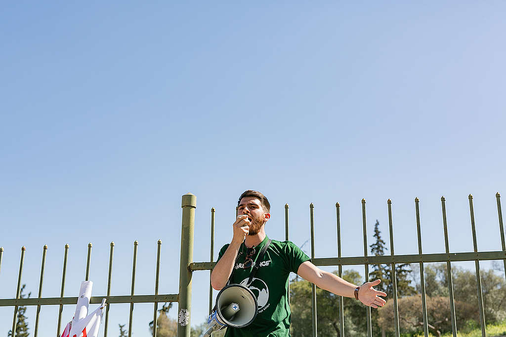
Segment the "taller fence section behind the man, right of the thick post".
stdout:
<path fill-rule="evenodd" d="M 390 234 L 390 252 L 391 255 L 384 256 L 368 256 L 368 246 L 367 246 L 367 231 L 366 231 L 366 217 L 365 217 L 365 199 L 362 199 L 362 224 L 363 224 L 363 246 L 364 246 L 364 256 L 360 257 L 342 257 L 341 256 L 341 222 L 340 222 L 340 205 L 339 203 L 335 204 L 335 212 L 336 212 L 336 226 L 337 226 L 337 244 L 338 244 L 338 257 L 333 258 L 315 258 L 314 252 L 314 205 L 309 205 L 310 211 L 310 226 L 311 226 L 311 260 L 317 266 L 338 266 L 339 276 L 342 276 L 343 266 L 351 266 L 351 265 L 363 265 L 364 266 L 364 274 L 365 274 L 365 282 L 369 281 L 369 265 L 377 265 L 377 264 L 390 264 L 392 269 L 392 285 L 393 285 L 393 301 L 394 301 L 394 326 L 395 326 L 395 335 L 399 336 L 399 311 L 398 311 L 398 299 L 397 299 L 397 279 L 396 279 L 396 264 L 403 263 L 418 263 L 420 267 L 420 284 L 421 284 L 421 299 L 422 299 L 422 311 L 424 317 L 424 334 L 427 337 L 429 335 L 428 329 L 428 321 L 427 321 L 427 303 L 426 303 L 426 291 L 425 291 L 425 281 L 424 281 L 424 263 L 431 262 L 446 262 L 447 270 L 448 270 L 448 291 L 449 291 L 449 302 L 450 302 L 450 314 L 451 314 L 451 325 L 452 325 L 452 333 L 453 336 L 457 336 L 457 326 L 455 320 L 455 304 L 453 299 L 453 282 L 452 282 L 452 273 L 451 273 L 451 262 L 461 262 L 461 261 L 475 261 L 476 267 L 476 277 L 477 277 L 477 291 L 478 291 L 478 305 L 479 305 L 479 313 L 480 313 L 480 324 L 482 336 L 486 337 L 485 331 L 485 314 L 483 307 L 483 292 L 481 286 L 481 276 L 480 276 L 480 264 L 479 261 L 484 260 L 503 260 L 504 270 L 506 271 L 506 246 L 504 244 L 504 229 L 502 222 L 502 212 L 501 212 L 501 203 L 500 203 L 500 195 L 497 193 L 495 195 L 497 201 L 497 214 L 499 221 L 499 232 L 500 239 L 502 245 L 502 251 L 496 252 L 478 252 L 478 246 L 476 243 L 476 227 L 475 227 L 475 217 L 474 217 L 474 208 L 473 208 L 473 196 L 469 195 L 469 210 L 471 216 L 471 229 L 473 235 L 473 246 L 474 252 L 466 252 L 466 253 L 450 253 L 448 246 L 448 229 L 446 222 L 446 206 L 445 206 L 445 198 L 441 197 L 441 210 L 443 217 L 443 229 L 444 229 L 444 240 L 445 240 L 445 248 L 446 252 L 441 254 L 423 254 L 421 250 L 421 234 L 420 234 L 420 212 L 419 212 L 419 200 L 416 198 L 414 200 L 415 210 L 416 210 L 416 229 L 417 229 L 417 237 L 418 237 L 418 254 L 410 254 L 410 255 L 395 255 L 394 254 L 394 235 L 393 235 L 393 221 L 392 221 L 392 201 L 389 199 L 387 201 L 388 206 L 388 218 L 389 218 L 389 234 Z M 285 205 L 285 239 L 288 240 L 288 204 Z M 214 246 L 214 212 L 215 209 L 211 210 L 211 261 L 213 260 L 213 246 Z M 191 270 L 212 270 L 215 266 L 215 262 L 194 262 L 190 264 Z M 212 308 L 212 288 L 209 287 L 209 311 Z M 316 324 L 316 286 L 312 285 L 312 320 L 313 320 L 313 336 L 317 335 L 317 324 Z M 372 336 L 372 328 L 371 328 L 371 309 L 370 307 L 366 307 L 366 316 L 367 316 L 367 336 Z M 341 335 L 346 335 L 346 331 L 344 329 L 344 309 L 343 309 L 343 297 L 339 297 L 339 326 Z"/>

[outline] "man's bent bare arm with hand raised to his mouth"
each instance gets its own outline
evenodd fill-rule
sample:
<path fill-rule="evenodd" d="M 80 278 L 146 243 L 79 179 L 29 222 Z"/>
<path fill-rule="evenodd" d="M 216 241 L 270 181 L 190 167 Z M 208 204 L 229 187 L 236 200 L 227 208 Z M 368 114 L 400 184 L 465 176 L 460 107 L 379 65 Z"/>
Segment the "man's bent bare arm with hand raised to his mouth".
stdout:
<path fill-rule="evenodd" d="M 216 263 L 216 266 L 211 273 L 211 285 L 216 290 L 222 290 L 222 288 L 227 285 L 228 278 L 234 269 L 235 259 L 237 258 L 239 247 L 241 247 L 246 234 L 249 232 L 249 223 L 247 215 L 243 214 L 238 215 L 237 220 L 235 220 L 232 225 L 234 229 L 232 242 L 221 257 L 220 261 Z"/>

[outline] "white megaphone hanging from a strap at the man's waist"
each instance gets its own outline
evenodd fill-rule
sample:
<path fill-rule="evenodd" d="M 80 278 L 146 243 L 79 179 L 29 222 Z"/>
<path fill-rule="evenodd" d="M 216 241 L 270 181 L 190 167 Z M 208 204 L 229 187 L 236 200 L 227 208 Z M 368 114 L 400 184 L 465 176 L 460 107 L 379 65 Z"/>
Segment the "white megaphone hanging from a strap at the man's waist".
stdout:
<path fill-rule="evenodd" d="M 247 326 L 257 313 L 257 298 L 248 288 L 240 284 L 227 285 L 216 297 L 216 306 L 207 318 L 207 330 L 202 337 L 208 337 L 225 326 Z"/>

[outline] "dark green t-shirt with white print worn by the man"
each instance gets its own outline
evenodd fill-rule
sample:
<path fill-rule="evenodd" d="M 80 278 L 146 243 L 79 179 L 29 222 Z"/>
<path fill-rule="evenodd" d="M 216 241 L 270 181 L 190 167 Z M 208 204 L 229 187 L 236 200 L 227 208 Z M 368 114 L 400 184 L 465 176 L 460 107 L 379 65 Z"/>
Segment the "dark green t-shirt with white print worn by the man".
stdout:
<path fill-rule="evenodd" d="M 255 256 L 252 260 L 257 263 L 257 258 L 269 238 L 255 247 Z M 218 255 L 221 259 L 229 245 L 223 246 Z M 242 243 L 238 254 L 239 260 L 234 266 L 231 283 L 246 285 L 249 273 L 253 269 L 244 269 L 243 263 L 246 258 L 247 247 Z M 297 273 L 299 266 L 310 258 L 291 241 L 280 242 L 272 240 L 265 252 L 257 275 L 252 280 L 249 289 L 255 294 L 258 302 L 257 318 L 243 328 L 227 328 L 226 337 L 285 337 L 290 334 L 290 307 L 288 305 L 288 275 L 290 272 Z"/>

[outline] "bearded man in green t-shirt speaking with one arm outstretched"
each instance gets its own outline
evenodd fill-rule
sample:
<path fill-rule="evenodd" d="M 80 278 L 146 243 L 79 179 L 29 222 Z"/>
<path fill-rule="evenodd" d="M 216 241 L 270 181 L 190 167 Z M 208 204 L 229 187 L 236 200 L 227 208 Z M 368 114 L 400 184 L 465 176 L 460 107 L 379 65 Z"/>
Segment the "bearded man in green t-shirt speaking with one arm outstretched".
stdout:
<path fill-rule="evenodd" d="M 262 261 L 257 261 L 259 252 L 269 240 L 265 233 L 265 223 L 271 217 L 269 212 L 269 201 L 262 193 L 247 190 L 239 197 L 237 220 L 232 225 L 234 232 L 232 241 L 220 250 L 218 262 L 211 274 L 213 288 L 221 290 L 227 284 L 232 271 L 231 283 L 245 285 L 252 267 L 259 265 L 258 272 L 249 286 L 257 296 L 258 315 L 246 327 L 227 328 L 225 336 L 288 336 L 290 272 L 297 273 L 336 295 L 358 297 L 358 300 L 367 306 L 377 308 L 385 305 L 386 301 L 379 296 L 387 294 L 373 288 L 381 280 L 367 282 L 358 287 L 316 267 L 299 247 L 289 241 L 272 240 Z"/>

